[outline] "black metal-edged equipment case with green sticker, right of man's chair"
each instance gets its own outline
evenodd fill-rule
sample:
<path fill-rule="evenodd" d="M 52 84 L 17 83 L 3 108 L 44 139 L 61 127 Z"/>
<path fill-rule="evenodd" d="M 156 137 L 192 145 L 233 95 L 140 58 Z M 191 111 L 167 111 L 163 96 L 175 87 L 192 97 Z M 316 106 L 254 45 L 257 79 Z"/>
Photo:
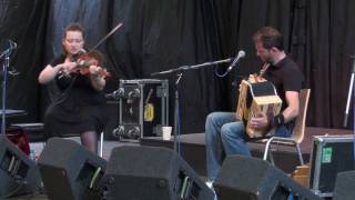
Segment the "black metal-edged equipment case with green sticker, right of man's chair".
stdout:
<path fill-rule="evenodd" d="M 311 153 L 310 188 L 333 197 L 336 174 L 354 170 L 354 136 L 315 136 Z"/>

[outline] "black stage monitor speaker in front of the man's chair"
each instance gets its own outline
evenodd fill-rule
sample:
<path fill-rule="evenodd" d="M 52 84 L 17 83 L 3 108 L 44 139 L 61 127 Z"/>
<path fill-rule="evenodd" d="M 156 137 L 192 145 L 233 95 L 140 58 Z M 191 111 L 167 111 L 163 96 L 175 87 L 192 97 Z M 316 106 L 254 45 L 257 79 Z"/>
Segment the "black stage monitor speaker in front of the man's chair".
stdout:
<path fill-rule="evenodd" d="M 213 186 L 220 200 L 321 199 L 268 162 L 242 156 L 225 159 Z"/>

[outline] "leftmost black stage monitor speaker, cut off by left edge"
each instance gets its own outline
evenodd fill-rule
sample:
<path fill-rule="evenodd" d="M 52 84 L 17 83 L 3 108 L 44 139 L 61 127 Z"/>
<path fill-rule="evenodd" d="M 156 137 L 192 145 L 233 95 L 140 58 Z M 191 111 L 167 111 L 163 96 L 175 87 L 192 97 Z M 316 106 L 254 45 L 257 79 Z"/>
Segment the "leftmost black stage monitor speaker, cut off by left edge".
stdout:
<path fill-rule="evenodd" d="M 32 193 L 40 183 L 34 161 L 0 134 L 0 199 Z"/>

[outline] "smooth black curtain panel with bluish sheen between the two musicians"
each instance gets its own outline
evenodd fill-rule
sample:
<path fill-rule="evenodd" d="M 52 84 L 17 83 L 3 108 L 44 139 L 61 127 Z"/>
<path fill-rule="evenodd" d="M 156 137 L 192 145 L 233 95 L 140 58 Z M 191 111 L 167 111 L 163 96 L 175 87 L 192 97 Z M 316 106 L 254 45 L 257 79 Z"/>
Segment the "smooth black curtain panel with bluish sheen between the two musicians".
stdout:
<path fill-rule="evenodd" d="M 47 58 L 61 51 L 61 34 L 69 22 L 79 21 L 89 28 L 89 48 L 122 22 L 123 28 L 99 48 L 106 56 L 109 71 L 114 74 L 106 90 L 116 89 L 119 79 L 169 79 L 170 104 L 173 106 L 175 74 L 151 77 L 151 73 L 223 58 L 222 37 L 217 36 L 219 27 L 214 27 L 219 24 L 214 21 L 217 20 L 214 8 L 213 1 L 187 0 L 51 1 Z M 225 99 L 221 82 L 223 80 L 214 77 L 212 68 L 184 72 L 179 84 L 181 132 L 203 131 L 206 114 L 217 110 Z M 173 108 L 170 107 L 171 124 Z"/>

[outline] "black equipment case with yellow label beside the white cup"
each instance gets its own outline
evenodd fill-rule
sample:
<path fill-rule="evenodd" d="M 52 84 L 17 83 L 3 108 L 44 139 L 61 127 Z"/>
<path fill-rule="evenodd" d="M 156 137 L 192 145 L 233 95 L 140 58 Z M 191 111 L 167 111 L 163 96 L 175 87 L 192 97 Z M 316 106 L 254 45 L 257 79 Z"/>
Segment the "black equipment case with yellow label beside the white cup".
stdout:
<path fill-rule="evenodd" d="M 138 141 L 161 136 L 169 122 L 169 82 L 158 79 L 120 80 L 119 127 L 113 136 L 121 141 Z"/>

